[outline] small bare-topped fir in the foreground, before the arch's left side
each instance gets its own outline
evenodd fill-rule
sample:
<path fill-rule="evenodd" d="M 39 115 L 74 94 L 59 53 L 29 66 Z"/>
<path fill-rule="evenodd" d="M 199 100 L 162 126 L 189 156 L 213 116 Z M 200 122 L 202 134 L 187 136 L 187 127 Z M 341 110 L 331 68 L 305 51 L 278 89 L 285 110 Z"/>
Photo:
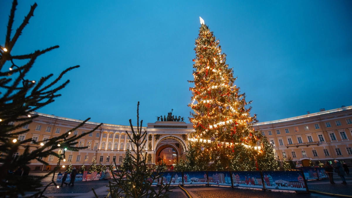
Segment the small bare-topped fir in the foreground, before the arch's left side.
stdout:
<path fill-rule="evenodd" d="M 132 130 L 131 133 L 126 134 L 130 137 L 131 143 L 135 144 L 136 149 L 133 150 L 132 156 L 132 166 L 130 171 L 127 171 L 125 168 L 117 168 L 117 173 L 113 172 L 113 181 L 109 181 L 109 193 L 107 197 L 125 197 L 125 198 L 142 198 L 142 197 L 167 197 L 166 193 L 170 192 L 169 184 L 162 184 L 159 186 L 158 191 L 154 190 L 151 187 L 152 181 L 160 178 L 158 173 L 153 173 L 153 170 L 149 168 L 146 163 L 147 152 L 144 150 L 146 144 L 147 131 L 142 131 L 143 120 L 140 121 L 139 126 L 139 102 L 137 104 L 137 131 L 136 128 L 132 126 L 132 120 L 130 119 L 130 126 Z M 131 136 L 130 136 L 131 134 Z M 116 166 L 116 162 L 115 167 Z M 127 165 L 126 165 L 127 166 Z M 171 182 L 171 181 L 170 181 Z M 94 189 L 92 188 L 93 192 Z M 94 192 L 95 197 L 98 198 L 98 195 Z"/>

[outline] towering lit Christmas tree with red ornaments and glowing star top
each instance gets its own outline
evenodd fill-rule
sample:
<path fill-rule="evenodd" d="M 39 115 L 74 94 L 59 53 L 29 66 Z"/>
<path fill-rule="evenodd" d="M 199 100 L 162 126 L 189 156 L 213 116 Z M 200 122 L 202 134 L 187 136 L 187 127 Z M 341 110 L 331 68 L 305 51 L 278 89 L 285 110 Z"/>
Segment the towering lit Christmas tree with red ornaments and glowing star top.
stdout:
<path fill-rule="evenodd" d="M 201 19 L 201 18 L 200 18 Z M 187 169 L 276 170 L 278 164 L 270 144 L 253 128 L 251 101 L 234 85 L 233 68 L 221 54 L 219 40 L 201 19 L 193 60 L 193 96 L 189 106 L 195 132 L 189 135 Z M 196 167 L 195 167 L 196 166 Z"/>

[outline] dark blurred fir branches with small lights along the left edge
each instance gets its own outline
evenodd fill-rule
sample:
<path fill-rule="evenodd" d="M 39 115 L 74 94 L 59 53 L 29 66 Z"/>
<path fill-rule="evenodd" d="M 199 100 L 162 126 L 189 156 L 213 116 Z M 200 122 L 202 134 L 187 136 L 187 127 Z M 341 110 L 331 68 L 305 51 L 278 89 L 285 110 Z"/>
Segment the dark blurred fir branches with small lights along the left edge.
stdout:
<path fill-rule="evenodd" d="M 44 50 L 36 50 L 33 53 L 25 55 L 12 55 L 16 41 L 21 35 L 24 27 L 29 23 L 33 16 L 37 4 L 34 3 L 22 24 L 17 28 L 11 38 L 12 25 L 15 16 L 17 0 L 12 3 L 10 16 L 7 24 L 5 36 L 5 46 L 0 46 L 0 188 L 1 195 L 4 197 L 18 197 L 18 194 L 24 196 L 25 192 L 34 192 L 31 197 L 44 197 L 43 192 L 49 185 L 57 185 L 54 180 L 55 172 L 60 166 L 60 162 L 65 158 L 65 149 L 69 151 L 79 151 L 87 147 L 76 147 L 77 140 L 85 135 L 90 134 L 99 128 L 98 125 L 92 131 L 82 135 L 69 135 L 72 131 L 84 125 L 90 118 L 84 120 L 78 126 L 64 134 L 45 141 L 32 142 L 32 138 L 20 141 L 18 136 L 29 132 L 29 129 L 22 129 L 23 126 L 32 123 L 37 115 L 31 114 L 45 105 L 54 102 L 54 99 L 61 96 L 57 92 L 63 89 L 69 80 L 58 85 L 63 75 L 68 71 L 78 68 L 79 66 L 65 69 L 56 79 L 50 81 L 53 74 L 42 77 L 39 81 L 30 79 L 28 74 L 33 67 L 36 59 L 46 52 L 58 48 L 56 45 Z M 28 60 L 23 65 L 18 65 L 18 60 Z M 50 67 L 50 65 L 49 65 Z M 11 123 L 11 124 L 9 124 Z M 14 123 L 14 124 L 12 124 Z M 15 131 L 15 132 L 14 132 Z M 26 145 L 32 142 L 37 144 L 36 147 Z M 13 158 L 14 153 L 19 149 L 24 152 Z M 34 150 L 33 150 L 34 148 Z M 45 176 L 33 175 L 13 175 L 9 171 L 22 168 L 28 170 L 27 165 L 31 160 L 37 160 L 43 165 L 48 165 L 42 159 L 54 155 L 58 157 L 57 166 L 53 171 Z M 52 174 L 51 182 L 44 188 L 41 187 L 41 180 Z"/>

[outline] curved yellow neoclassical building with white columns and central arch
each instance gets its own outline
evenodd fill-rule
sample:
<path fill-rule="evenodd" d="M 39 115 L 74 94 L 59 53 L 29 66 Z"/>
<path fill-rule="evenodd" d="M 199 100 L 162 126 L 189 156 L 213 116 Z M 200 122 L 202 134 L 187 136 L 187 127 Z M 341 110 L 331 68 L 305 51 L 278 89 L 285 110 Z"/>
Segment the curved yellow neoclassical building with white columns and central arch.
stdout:
<path fill-rule="evenodd" d="M 18 140 L 33 138 L 34 141 L 43 141 L 51 137 L 73 129 L 82 120 L 47 115 L 32 112 L 39 115 L 24 129 L 30 129 L 27 134 L 20 135 Z M 171 115 L 172 116 L 172 115 Z M 309 165 L 309 160 L 314 163 L 326 162 L 334 159 L 344 161 L 351 165 L 352 160 L 352 106 L 341 107 L 318 113 L 310 113 L 303 116 L 274 120 L 270 122 L 256 123 L 254 128 L 262 131 L 263 135 L 275 149 L 275 155 L 279 160 L 283 157 L 292 157 L 294 161 L 303 166 Z M 179 120 L 180 121 L 180 120 Z M 13 124 L 13 123 L 10 123 Z M 71 135 L 86 133 L 99 123 L 87 122 Z M 186 122 L 157 121 L 148 123 L 143 127 L 147 131 L 147 161 L 156 163 L 163 158 L 164 149 L 171 152 L 174 161 L 185 159 L 187 153 L 187 134 L 193 131 L 193 124 Z M 126 149 L 134 147 L 130 144 L 126 134 L 131 132 L 130 126 L 103 124 L 93 133 L 82 137 L 77 146 L 87 146 L 87 149 L 79 152 L 66 151 L 66 161 L 62 165 L 72 163 L 74 167 L 82 164 L 89 166 L 93 157 L 97 163 L 110 164 L 113 160 L 119 164 L 125 155 Z M 28 143 L 34 150 L 38 144 Z M 23 152 L 24 146 L 15 155 Z M 171 150 L 170 150 L 171 149 Z M 15 157 L 14 155 L 14 157 Z M 49 156 L 44 161 L 49 166 L 44 166 L 36 160 L 31 161 L 32 170 L 42 171 L 56 166 L 57 158 Z"/>

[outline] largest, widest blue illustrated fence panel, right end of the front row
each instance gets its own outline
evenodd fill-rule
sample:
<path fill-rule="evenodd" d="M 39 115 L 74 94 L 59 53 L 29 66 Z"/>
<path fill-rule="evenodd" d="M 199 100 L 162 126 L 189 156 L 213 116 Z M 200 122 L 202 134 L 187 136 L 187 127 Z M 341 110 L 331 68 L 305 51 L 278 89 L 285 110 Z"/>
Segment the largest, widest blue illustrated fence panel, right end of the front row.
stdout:
<path fill-rule="evenodd" d="M 307 191 L 301 171 L 262 171 L 266 189 Z"/>

